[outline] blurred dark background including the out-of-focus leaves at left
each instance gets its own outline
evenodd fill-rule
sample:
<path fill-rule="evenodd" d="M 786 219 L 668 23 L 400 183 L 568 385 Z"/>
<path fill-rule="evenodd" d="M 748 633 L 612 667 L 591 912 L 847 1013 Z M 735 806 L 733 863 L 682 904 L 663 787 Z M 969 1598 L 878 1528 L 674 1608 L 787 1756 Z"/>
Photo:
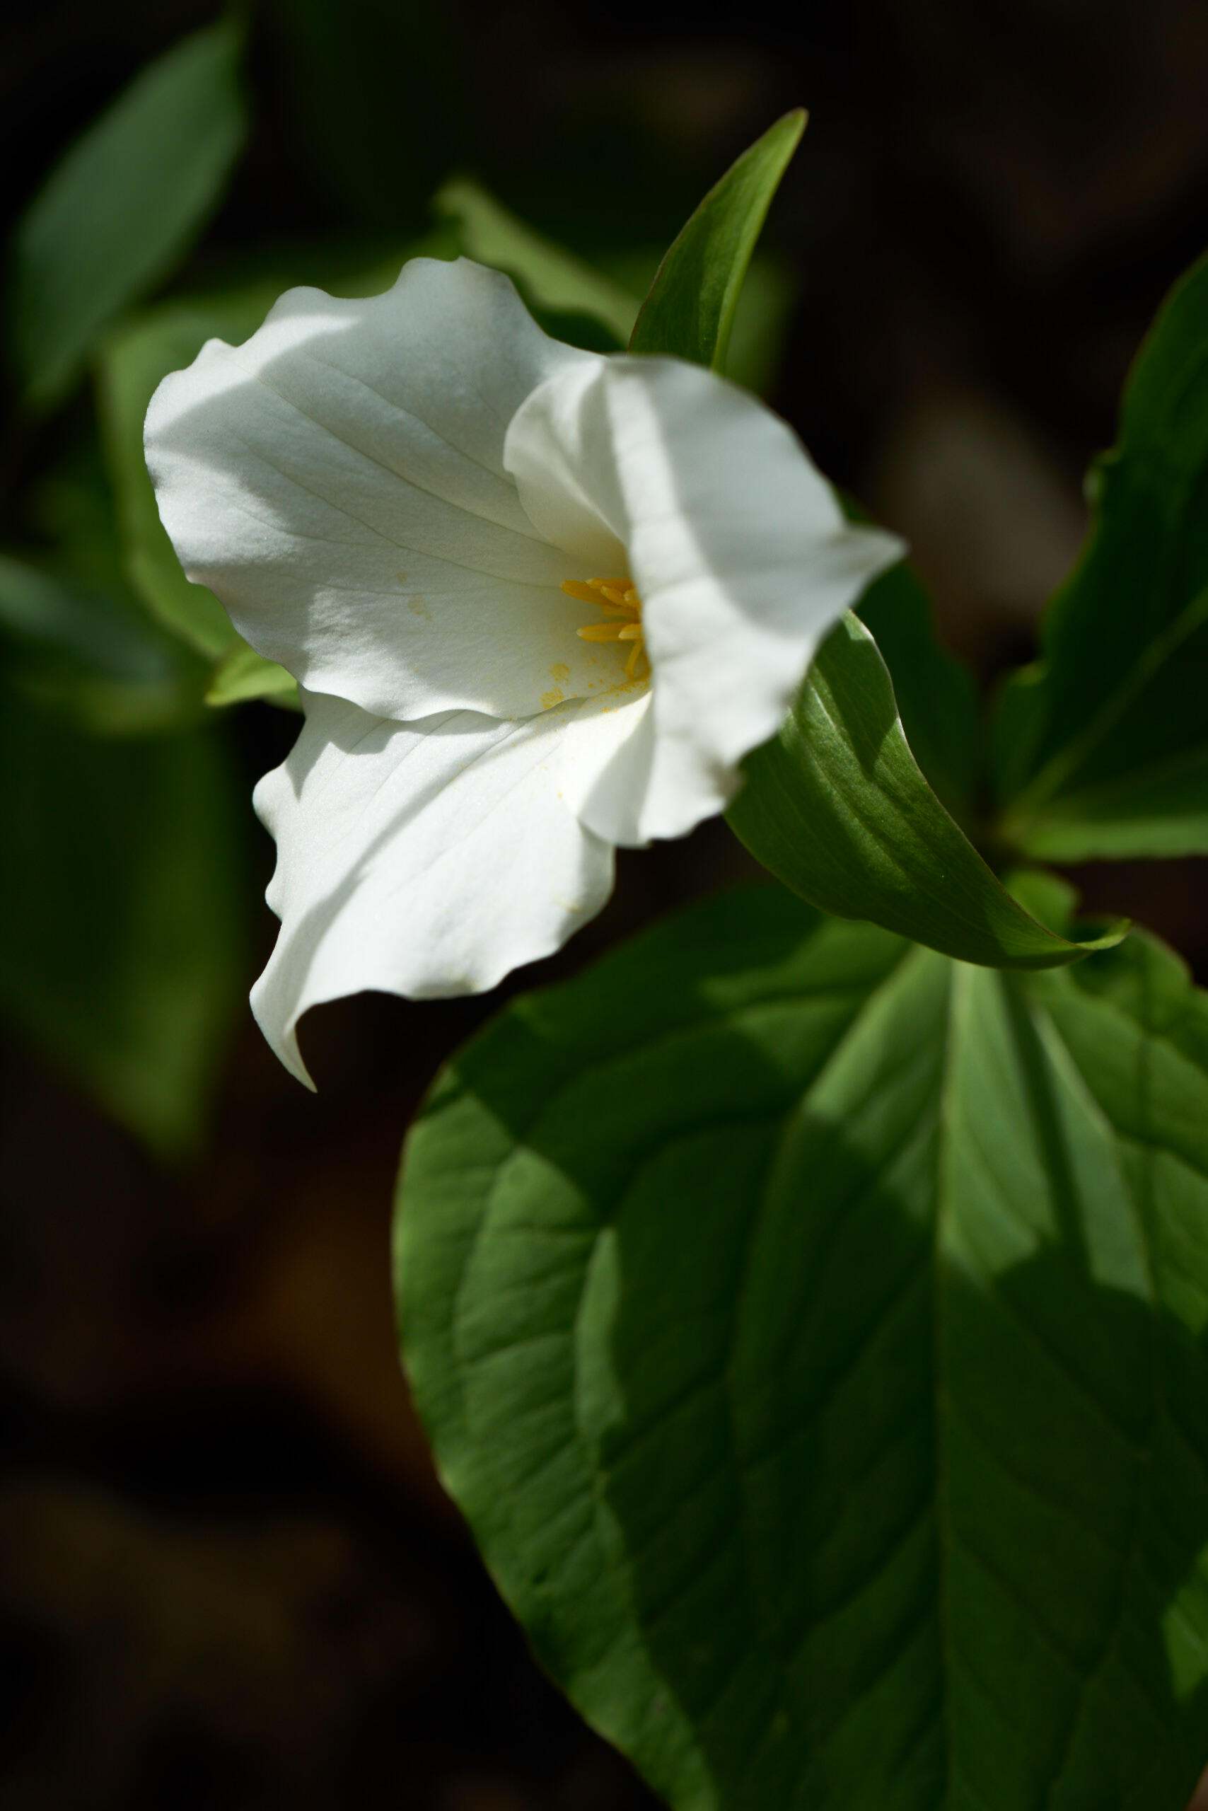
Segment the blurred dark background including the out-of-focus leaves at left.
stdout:
<path fill-rule="evenodd" d="M 143 411 L 290 284 L 371 293 L 415 252 L 623 344 L 705 188 L 804 103 L 730 371 L 911 541 L 989 688 L 1208 241 L 1208 14 L 47 0 L 0 81 L 4 1802 L 645 1804 L 527 1661 L 397 1375 L 397 1148 L 489 1005 L 324 1009 L 317 1101 L 263 1047 L 248 800 L 292 685 L 179 572 Z M 513 987 L 744 869 L 721 824 L 623 862 Z M 1074 878 L 1204 980 L 1206 869 Z"/>

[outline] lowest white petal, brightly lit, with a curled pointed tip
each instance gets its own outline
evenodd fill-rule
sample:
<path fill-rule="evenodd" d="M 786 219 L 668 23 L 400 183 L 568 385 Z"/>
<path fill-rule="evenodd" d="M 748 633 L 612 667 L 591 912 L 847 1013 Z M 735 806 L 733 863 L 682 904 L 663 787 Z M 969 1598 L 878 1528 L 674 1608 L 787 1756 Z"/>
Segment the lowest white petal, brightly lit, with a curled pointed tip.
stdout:
<path fill-rule="evenodd" d="M 292 753 L 255 788 L 277 838 L 268 904 L 281 936 L 252 1007 L 310 1083 L 295 1036 L 308 1007 L 369 987 L 413 1000 L 494 987 L 599 911 L 612 846 L 567 810 L 554 773 L 592 704 L 402 724 L 302 701 Z"/>

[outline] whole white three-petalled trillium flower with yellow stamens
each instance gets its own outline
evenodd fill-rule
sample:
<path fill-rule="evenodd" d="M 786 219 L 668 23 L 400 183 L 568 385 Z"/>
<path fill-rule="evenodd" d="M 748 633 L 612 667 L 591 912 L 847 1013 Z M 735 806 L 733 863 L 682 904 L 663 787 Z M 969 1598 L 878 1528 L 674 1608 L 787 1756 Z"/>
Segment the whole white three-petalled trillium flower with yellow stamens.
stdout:
<path fill-rule="evenodd" d="M 478 992 L 558 949 L 614 849 L 721 811 L 898 541 L 793 433 L 676 359 L 549 339 L 498 272 L 290 290 L 147 415 L 190 580 L 299 681 L 255 788 L 281 918 L 252 1005 Z"/>

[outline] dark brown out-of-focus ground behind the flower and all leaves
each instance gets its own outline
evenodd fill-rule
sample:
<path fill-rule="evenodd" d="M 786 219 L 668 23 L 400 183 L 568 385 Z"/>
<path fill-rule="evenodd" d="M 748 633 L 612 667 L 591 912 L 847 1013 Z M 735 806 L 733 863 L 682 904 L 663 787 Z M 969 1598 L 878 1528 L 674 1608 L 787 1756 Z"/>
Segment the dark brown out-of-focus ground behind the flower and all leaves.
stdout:
<path fill-rule="evenodd" d="M 210 16 L 63 0 L 11 27 L 7 210 Z M 317 69 L 364 107 L 333 120 Z M 1128 360 L 1208 243 L 1203 0 L 759 0 L 715 25 L 657 0 L 438 16 L 281 0 L 255 14 L 252 71 L 252 150 L 199 270 L 277 235 L 404 243 L 453 168 L 589 257 L 665 244 L 730 158 L 806 103 L 770 228 L 801 286 L 773 400 L 911 541 L 945 639 L 987 683 L 1031 656 Z M 239 715 L 248 790 L 293 730 L 264 704 Z M 250 980 L 273 922 L 272 849 L 254 826 L 248 842 Z M 625 857 L 603 918 L 513 987 L 743 867 L 721 824 Z M 1076 878 L 1208 978 L 1208 864 Z M 5 1052 L 5 1807 L 648 1802 L 527 1659 L 398 1376 L 398 1145 L 489 1005 L 322 1009 L 304 1027 L 313 1099 L 246 1016 L 187 1172 Z"/>

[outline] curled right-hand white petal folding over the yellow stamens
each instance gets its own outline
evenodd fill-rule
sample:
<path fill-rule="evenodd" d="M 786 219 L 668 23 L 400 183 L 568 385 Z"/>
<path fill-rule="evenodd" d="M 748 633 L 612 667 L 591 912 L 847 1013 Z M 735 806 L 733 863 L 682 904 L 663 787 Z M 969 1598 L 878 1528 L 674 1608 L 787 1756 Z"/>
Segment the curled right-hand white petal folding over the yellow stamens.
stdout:
<path fill-rule="evenodd" d="M 542 534 L 605 523 L 643 599 L 650 706 L 567 797 L 612 842 L 681 835 L 733 797 L 743 755 L 902 543 L 844 522 L 779 417 L 676 359 L 556 373 L 513 420 L 503 462 Z"/>

